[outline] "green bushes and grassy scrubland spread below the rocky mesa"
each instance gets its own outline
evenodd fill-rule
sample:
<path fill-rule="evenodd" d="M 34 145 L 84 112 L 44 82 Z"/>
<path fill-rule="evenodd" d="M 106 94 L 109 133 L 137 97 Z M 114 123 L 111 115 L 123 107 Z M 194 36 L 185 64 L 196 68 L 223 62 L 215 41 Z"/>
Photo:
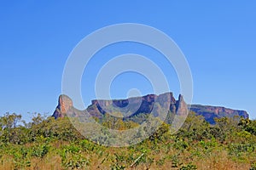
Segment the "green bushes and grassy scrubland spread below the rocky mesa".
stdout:
<path fill-rule="evenodd" d="M 148 116 L 136 119 L 142 117 Z M 120 130 L 138 126 L 108 115 L 98 122 Z M 26 123 L 7 113 L 0 117 L 0 169 L 256 169 L 256 121 L 215 122 L 190 113 L 175 134 L 163 123 L 142 143 L 111 148 L 85 139 L 67 117 L 38 114 Z"/>

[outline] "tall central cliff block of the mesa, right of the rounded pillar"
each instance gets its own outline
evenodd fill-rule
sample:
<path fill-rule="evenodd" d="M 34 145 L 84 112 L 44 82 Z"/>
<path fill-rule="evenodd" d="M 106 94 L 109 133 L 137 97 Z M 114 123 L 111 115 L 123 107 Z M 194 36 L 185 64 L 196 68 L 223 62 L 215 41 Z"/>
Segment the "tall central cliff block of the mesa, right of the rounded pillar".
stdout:
<path fill-rule="evenodd" d="M 173 97 L 172 93 L 166 94 L 148 94 L 143 97 L 135 97 L 130 99 L 113 99 L 113 100 L 92 100 L 91 105 L 96 106 L 96 110 L 102 114 L 106 112 L 118 111 L 125 113 L 125 116 L 135 116 L 140 113 L 150 113 L 154 109 L 154 104 L 158 103 L 163 108 L 168 108 L 174 114 L 186 115 L 188 107 L 183 100 L 183 96 L 179 95 L 178 100 Z M 91 106 L 90 106 L 91 107 Z M 96 115 L 97 111 L 91 111 L 91 115 Z"/>

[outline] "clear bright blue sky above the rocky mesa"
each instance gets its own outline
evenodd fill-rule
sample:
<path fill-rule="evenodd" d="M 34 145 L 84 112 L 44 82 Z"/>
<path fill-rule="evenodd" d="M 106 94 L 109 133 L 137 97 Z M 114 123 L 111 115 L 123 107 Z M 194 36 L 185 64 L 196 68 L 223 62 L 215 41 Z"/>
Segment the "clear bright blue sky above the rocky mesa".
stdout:
<path fill-rule="evenodd" d="M 61 94 L 65 62 L 75 45 L 103 26 L 134 22 L 154 26 L 177 42 L 192 71 L 194 104 L 246 110 L 256 118 L 255 8 L 253 0 L 2 1 L 0 114 L 9 111 L 29 117 L 27 112 L 36 111 L 51 115 Z M 91 80 L 97 70 L 93 69 L 124 53 L 142 53 L 153 60 L 154 54 L 159 55 L 133 43 L 102 50 L 91 61 L 89 75 L 84 73 L 85 105 L 94 98 L 92 92 L 85 93 L 94 89 Z M 163 63 L 158 60 L 160 66 Z M 177 97 L 177 77 L 172 69 L 166 72 Z M 136 83 L 131 84 L 131 78 Z M 132 73 L 117 77 L 111 92 L 113 97 L 125 98 L 129 88 L 151 93 L 147 80 Z"/>

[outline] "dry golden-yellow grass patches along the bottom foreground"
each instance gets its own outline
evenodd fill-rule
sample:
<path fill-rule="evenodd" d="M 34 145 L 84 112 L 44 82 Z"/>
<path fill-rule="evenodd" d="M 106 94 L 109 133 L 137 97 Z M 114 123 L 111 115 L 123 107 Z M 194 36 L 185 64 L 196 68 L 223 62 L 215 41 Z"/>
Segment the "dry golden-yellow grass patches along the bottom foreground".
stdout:
<path fill-rule="evenodd" d="M 63 143 L 64 144 L 64 143 Z M 67 143 L 65 143 L 67 144 Z M 62 143 L 53 143 L 52 146 L 56 149 L 62 146 Z M 131 162 L 124 161 L 121 164 L 125 165 L 125 169 L 173 169 L 177 170 L 183 165 L 188 165 L 191 162 L 193 165 L 199 170 L 244 170 L 250 168 L 250 163 L 247 161 L 237 161 L 232 160 L 228 155 L 226 150 L 213 150 L 206 156 L 191 156 L 191 150 L 185 150 L 180 152 L 178 160 L 183 164 L 180 167 L 172 167 L 172 159 L 170 157 L 177 155 L 177 151 L 175 149 L 170 149 L 167 153 L 166 150 L 160 150 L 159 153 L 152 150 L 148 152 L 147 156 L 149 158 L 154 159 L 154 162 L 147 166 L 147 163 L 140 163 L 136 167 L 130 167 Z M 110 169 L 111 165 L 113 165 L 113 161 L 115 161 L 114 154 L 118 155 L 129 155 L 129 150 L 126 148 L 108 148 L 103 156 L 98 156 L 94 152 L 86 153 L 82 152 L 83 156 L 85 156 L 88 160 L 90 160 L 90 167 L 84 167 L 84 169 Z M 131 153 L 130 153 L 131 154 Z M 140 154 L 137 153 L 136 156 Z M 108 156 L 108 157 L 106 157 Z M 136 157 L 135 156 L 135 157 Z M 166 158 L 168 157 L 169 158 Z M 166 159 L 165 159 L 166 158 Z M 160 165 L 160 160 L 165 159 L 164 163 Z M 103 161 L 105 160 L 105 161 Z M 61 170 L 64 169 L 61 167 L 61 156 L 59 156 L 58 152 L 52 151 L 49 152 L 44 158 L 36 158 L 31 157 L 31 166 L 26 167 L 28 170 Z M 15 168 L 15 162 L 11 156 L 3 156 L 0 159 L 0 170 L 12 170 Z M 18 168 L 20 169 L 20 168 Z"/>

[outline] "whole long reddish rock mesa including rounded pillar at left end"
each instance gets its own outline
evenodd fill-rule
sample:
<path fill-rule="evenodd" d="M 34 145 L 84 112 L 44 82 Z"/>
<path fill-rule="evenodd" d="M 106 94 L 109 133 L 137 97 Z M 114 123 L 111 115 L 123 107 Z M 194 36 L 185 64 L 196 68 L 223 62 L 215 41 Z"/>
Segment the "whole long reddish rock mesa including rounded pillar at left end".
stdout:
<path fill-rule="evenodd" d="M 248 117 L 247 111 L 237 111 L 219 106 L 210 105 L 187 105 L 180 94 L 176 100 L 172 93 L 166 94 L 148 94 L 143 97 L 133 97 L 129 99 L 94 99 L 91 105 L 85 111 L 79 111 L 73 107 L 73 101 L 67 95 L 62 94 L 58 99 L 58 105 L 52 116 L 56 118 L 66 116 L 84 115 L 89 113 L 90 116 L 102 118 L 106 113 L 112 115 L 121 113 L 121 117 L 132 118 L 142 114 L 152 113 L 159 116 L 163 111 L 168 111 L 173 115 L 187 115 L 188 111 L 194 111 L 197 115 L 204 116 L 207 122 L 214 124 L 215 117 Z"/>

